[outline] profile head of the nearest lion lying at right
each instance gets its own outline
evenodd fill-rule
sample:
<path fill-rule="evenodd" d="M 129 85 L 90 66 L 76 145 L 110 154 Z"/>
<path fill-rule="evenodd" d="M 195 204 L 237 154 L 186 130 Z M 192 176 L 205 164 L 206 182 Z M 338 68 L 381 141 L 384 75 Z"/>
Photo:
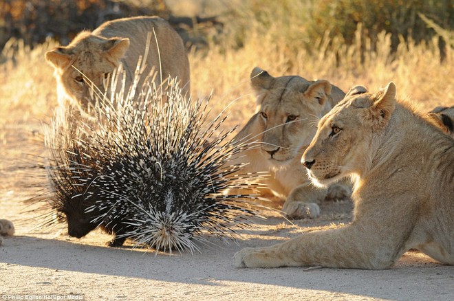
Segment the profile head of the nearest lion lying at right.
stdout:
<path fill-rule="evenodd" d="M 318 186 L 347 175 L 361 175 L 371 164 L 374 142 L 394 110 L 396 87 L 377 93 L 354 87 L 320 122 L 301 162 Z"/>

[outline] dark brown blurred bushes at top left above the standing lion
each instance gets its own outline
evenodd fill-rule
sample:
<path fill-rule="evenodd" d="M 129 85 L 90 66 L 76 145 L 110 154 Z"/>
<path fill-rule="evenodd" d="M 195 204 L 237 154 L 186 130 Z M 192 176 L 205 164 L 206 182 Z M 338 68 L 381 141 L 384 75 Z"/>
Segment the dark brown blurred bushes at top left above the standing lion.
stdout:
<path fill-rule="evenodd" d="M 67 44 L 81 30 L 139 14 L 168 16 L 162 0 L 147 6 L 111 0 L 1 0 L 0 46 L 11 37 L 23 39 L 26 45 L 43 43 L 47 37 Z"/>

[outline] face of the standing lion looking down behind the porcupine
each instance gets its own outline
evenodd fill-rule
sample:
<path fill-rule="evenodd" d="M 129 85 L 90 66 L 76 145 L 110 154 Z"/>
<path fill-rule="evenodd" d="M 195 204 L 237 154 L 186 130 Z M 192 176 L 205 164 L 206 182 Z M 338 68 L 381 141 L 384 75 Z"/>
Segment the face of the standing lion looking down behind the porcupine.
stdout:
<path fill-rule="evenodd" d="M 59 89 L 86 108 L 91 85 L 104 93 L 102 81 L 118 67 L 128 47 L 127 38 L 107 39 L 83 32 L 67 47 L 47 52 L 45 58 L 54 66 Z"/>

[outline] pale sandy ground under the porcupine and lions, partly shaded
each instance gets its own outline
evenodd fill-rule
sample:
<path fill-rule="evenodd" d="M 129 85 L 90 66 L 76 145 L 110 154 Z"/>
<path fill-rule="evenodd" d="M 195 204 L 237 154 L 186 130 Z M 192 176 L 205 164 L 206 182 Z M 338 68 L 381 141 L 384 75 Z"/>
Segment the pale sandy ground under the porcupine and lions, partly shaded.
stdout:
<path fill-rule="evenodd" d="M 324 202 L 320 219 L 290 223 L 273 212 L 257 219 L 237 243 L 226 245 L 204 236 L 200 253 L 155 254 L 152 250 L 105 247 L 109 236 L 100 231 L 82 239 L 67 236 L 65 225 L 36 229 L 36 212 L 23 200 L 39 193 L 27 188 L 41 181 L 14 168 L 23 155 L 39 154 L 30 143 L 41 124 L 6 124 L 0 205 L 3 219 L 17 227 L 0 246 L 0 298 L 60 298 L 63 300 L 453 300 L 454 267 L 440 265 L 418 252 L 408 252 L 386 271 L 357 269 L 237 269 L 233 254 L 243 247 L 265 246 L 351 219 L 352 204 Z M 18 159 L 19 157 L 19 159 Z M 339 250 L 342 252 L 342 250 Z"/>

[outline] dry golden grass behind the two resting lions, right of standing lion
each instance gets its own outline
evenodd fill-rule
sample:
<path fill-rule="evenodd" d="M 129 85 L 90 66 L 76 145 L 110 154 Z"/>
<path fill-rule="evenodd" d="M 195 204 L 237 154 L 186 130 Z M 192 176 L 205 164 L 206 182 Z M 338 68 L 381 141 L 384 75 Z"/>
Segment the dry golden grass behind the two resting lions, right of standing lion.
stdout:
<path fill-rule="evenodd" d="M 285 41 L 285 37 L 276 41 L 272 32 L 263 36 L 250 32 L 239 49 L 211 45 L 206 54 L 191 53 L 193 93 L 204 94 L 214 89 L 219 109 L 239 98 L 231 111 L 234 119 L 244 124 L 255 109 L 248 77 L 252 68 L 259 66 L 273 76 L 298 74 L 308 80 L 323 78 L 344 91 L 358 84 L 374 90 L 392 80 L 400 97 L 411 98 L 424 110 L 454 104 L 453 49 L 448 48 L 444 63 L 440 63 L 437 38 L 420 45 L 412 41 L 401 43 L 396 53 L 391 53 L 390 35 L 382 32 L 377 37 L 376 51 L 372 51 L 370 41 L 358 32 L 350 46 L 341 38 L 319 38 L 313 42 L 311 53 L 305 49 L 290 52 L 292 41 Z M 369 49 L 362 49 L 362 43 L 369 45 Z"/>

